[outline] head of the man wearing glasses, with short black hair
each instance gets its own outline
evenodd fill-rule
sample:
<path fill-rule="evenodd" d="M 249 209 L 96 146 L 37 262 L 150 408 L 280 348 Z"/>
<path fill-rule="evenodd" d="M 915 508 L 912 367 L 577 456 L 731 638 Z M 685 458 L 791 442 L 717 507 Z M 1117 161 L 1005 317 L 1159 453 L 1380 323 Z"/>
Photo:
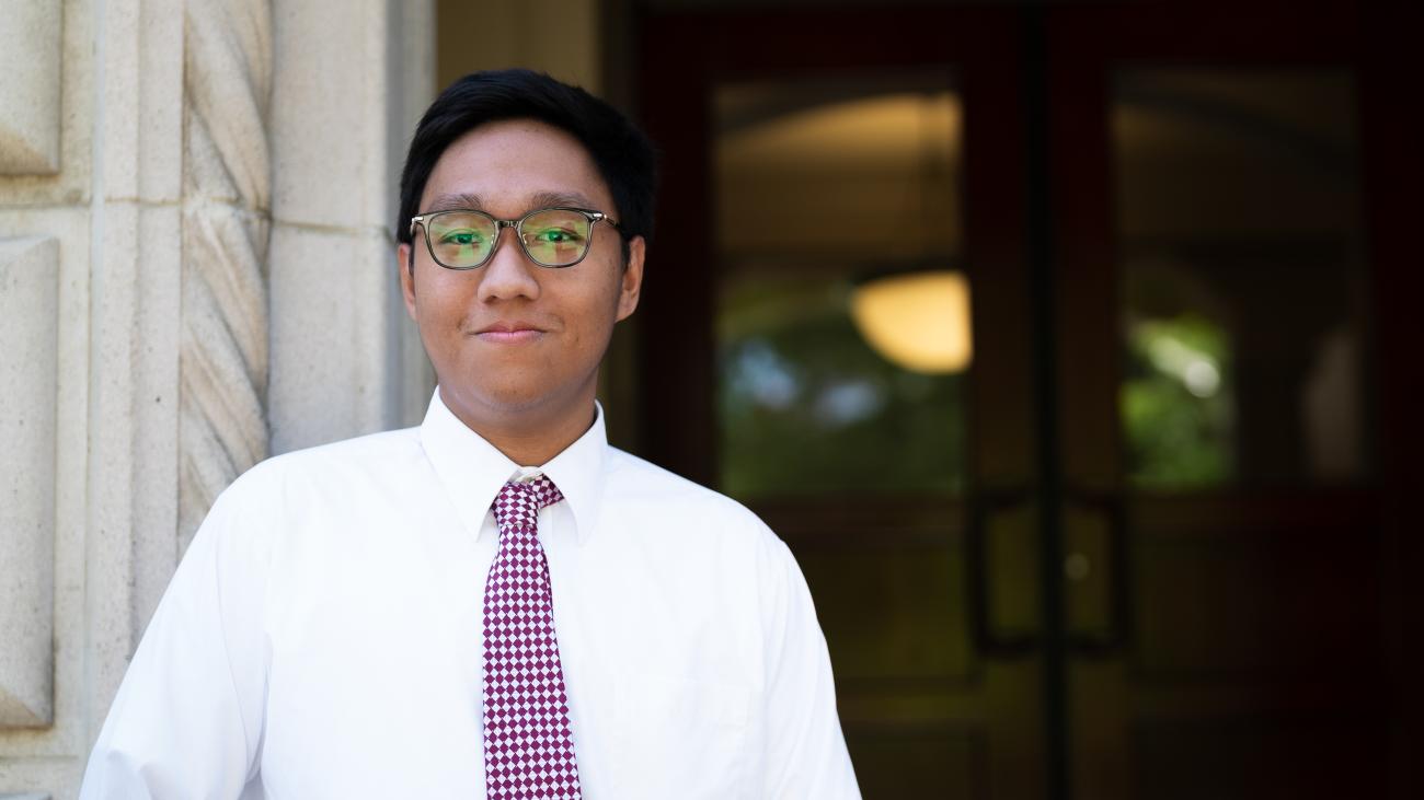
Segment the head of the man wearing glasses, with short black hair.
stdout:
<path fill-rule="evenodd" d="M 397 260 L 406 307 L 456 416 L 488 434 L 588 413 L 614 323 L 638 305 L 652 204 L 651 144 L 582 90 L 508 70 L 461 78 L 436 100 L 402 177 Z M 460 215 L 410 222 L 456 209 L 518 221 L 550 206 L 587 209 L 612 223 L 587 228 L 581 262 L 550 268 L 531 260 L 538 242 L 528 228 L 525 251 L 514 229 L 490 235 L 440 225 Z M 464 258 L 491 241 L 488 260 L 471 269 L 443 266 L 430 249 Z M 473 260 L 460 258 L 441 260 Z"/>

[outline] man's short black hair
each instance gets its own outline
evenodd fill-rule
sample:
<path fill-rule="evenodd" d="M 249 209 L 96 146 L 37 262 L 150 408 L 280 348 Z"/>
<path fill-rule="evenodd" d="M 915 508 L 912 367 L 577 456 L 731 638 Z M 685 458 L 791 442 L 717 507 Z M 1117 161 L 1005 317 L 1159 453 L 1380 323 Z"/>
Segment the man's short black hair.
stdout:
<path fill-rule="evenodd" d="M 592 157 L 618 206 L 611 215 L 622 231 L 627 263 L 629 239 L 652 241 L 656 151 L 648 137 L 608 102 L 533 70 L 471 73 L 450 84 L 430 104 L 416 125 L 400 174 L 396 241 L 412 242 L 410 218 L 420 214 L 420 195 L 446 148 L 486 122 L 523 118 L 572 134 Z"/>

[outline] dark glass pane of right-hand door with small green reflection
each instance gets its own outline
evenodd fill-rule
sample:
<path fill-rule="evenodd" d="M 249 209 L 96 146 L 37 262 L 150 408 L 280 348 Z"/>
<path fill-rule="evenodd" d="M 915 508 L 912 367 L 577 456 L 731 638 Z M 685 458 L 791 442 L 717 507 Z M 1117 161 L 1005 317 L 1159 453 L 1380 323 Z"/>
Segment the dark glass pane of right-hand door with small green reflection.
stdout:
<path fill-rule="evenodd" d="M 1131 480 L 1364 477 L 1349 77 L 1134 70 L 1112 114 Z"/>

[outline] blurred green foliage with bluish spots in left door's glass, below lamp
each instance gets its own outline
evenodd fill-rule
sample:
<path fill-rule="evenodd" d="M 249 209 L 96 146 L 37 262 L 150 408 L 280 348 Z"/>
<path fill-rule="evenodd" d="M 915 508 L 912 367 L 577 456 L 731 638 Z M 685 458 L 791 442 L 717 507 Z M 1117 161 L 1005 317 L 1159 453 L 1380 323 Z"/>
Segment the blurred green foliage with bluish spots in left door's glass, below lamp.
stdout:
<path fill-rule="evenodd" d="M 731 279 L 719 316 L 722 488 L 947 495 L 963 485 L 958 376 L 877 356 L 839 280 Z"/>

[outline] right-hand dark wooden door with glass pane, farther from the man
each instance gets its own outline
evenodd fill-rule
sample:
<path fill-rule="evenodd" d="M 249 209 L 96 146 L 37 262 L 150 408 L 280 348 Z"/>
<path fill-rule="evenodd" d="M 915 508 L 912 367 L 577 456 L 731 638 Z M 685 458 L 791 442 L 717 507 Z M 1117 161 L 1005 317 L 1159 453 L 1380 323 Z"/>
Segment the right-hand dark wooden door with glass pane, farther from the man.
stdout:
<path fill-rule="evenodd" d="M 1075 797 L 1418 787 L 1380 457 L 1403 343 L 1378 337 L 1414 268 L 1378 246 L 1397 195 L 1366 158 L 1408 154 L 1371 14 L 1045 14 Z"/>

